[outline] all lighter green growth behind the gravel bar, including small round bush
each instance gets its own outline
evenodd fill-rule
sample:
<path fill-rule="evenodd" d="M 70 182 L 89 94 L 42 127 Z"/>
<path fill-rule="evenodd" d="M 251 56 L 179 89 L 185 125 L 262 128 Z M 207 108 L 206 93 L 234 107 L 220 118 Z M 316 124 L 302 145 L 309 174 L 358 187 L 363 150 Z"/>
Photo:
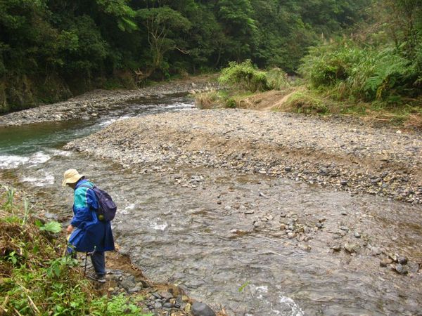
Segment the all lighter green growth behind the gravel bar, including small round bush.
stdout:
<path fill-rule="evenodd" d="M 308 49 L 300 65 L 295 64 L 302 79 L 294 84 L 277 68 L 262 71 L 250 60 L 231 62 L 219 78 L 227 90 L 198 96 L 198 105 L 269 108 L 274 98 L 274 110 L 352 114 L 421 127 L 422 3 L 374 0 L 366 8 L 368 22 L 350 28 L 350 37 L 322 37 Z M 254 100 L 248 94 L 269 89 L 286 95 L 268 93 Z"/>

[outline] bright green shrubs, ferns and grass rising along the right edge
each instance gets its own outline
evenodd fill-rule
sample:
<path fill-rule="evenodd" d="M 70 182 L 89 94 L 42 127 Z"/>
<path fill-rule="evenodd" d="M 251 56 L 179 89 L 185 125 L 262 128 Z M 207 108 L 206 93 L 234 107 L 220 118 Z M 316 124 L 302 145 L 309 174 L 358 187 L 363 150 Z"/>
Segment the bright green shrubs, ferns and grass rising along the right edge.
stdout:
<path fill-rule="evenodd" d="M 422 3 L 372 1 L 370 12 L 352 37 L 311 48 L 299 72 L 319 96 L 345 101 L 337 112 L 421 127 Z"/>

